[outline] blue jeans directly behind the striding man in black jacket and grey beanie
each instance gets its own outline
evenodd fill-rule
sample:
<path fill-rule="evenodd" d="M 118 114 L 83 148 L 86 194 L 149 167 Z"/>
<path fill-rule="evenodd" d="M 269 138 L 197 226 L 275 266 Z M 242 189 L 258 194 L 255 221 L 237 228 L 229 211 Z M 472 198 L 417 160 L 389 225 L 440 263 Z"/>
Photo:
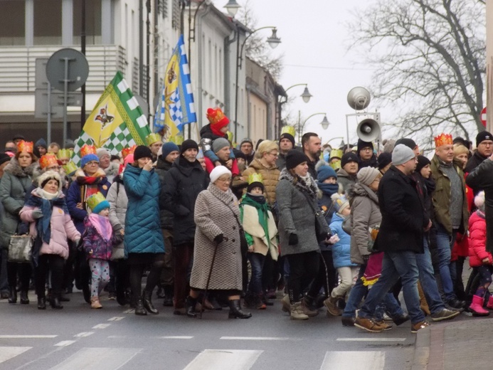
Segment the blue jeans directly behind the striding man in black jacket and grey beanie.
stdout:
<path fill-rule="evenodd" d="M 445 305 L 443 305 L 437 281 L 435 280 L 435 275 L 433 275 L 430 248 L 428 248 L 428 240 L 426 238 L 423 238 L 423 245 L 425 253 L 416 253 L 416 263 L 418 264 L 421 287 L 425 293 L 426 302 L 428 302 L 430 312 L 434 314 L 443 310 Z"/>

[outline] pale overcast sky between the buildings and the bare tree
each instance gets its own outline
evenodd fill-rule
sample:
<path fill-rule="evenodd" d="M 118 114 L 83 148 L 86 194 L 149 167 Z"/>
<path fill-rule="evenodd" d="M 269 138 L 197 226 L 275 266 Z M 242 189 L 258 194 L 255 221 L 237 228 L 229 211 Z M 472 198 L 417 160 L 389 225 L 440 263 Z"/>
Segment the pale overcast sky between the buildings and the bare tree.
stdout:
<path fill-rule="evenodd" d="M 237 0 L 244 5 L 245 0 Z M 344 137 L 346 142 L 346 114 L 354 113 L 347 104 L 346 97 L 351 88 L 369 87 L 372 71 L 356 63 L 358 51 L 346 51 L 349 44 L 348 30 L 345 23 L 353 19 L 351 11 L 363 9 L 372 0 L 250 0 L 257 28 L 276 26 L 277 36 L 282 43 L 272 51 L 275 55 L 284 55 L 284 68 L 278 81 L 285 89 L 297 83 L 307 83 L 313 95 L 304 103 L 299 95 L 303 87 L 288 91 L 288 95 L 298 96 L 289 106 L 292 117 L 297 117 L 301 110 L 302 117 L 309 117 L 317 112 L 327 112 L 331 123 L 324 130 L 319 125 L 323 115 L 317 115 L 307 121 L 304 132 L 317 132 L 322 142 L 335 137 Z M 218 9 L 226 11 L 223 6 L 227 0 L 213 0 Z M 267 38 L 270 30 L 259 31 Z M 370 103 L 369 110 L 378 110 L 375 103 Z M 286 114 L 286 113 L 285 113 Z M 385 111 L 381 118 L 385 120 Z M 357 140 L 356 118 L 350 117 L 349 131 L 351 141 Z M 385 137 L 383 137 L 385 138 Z M 334 139 L 331 144 L 339 145 L 341 139 Z"/>

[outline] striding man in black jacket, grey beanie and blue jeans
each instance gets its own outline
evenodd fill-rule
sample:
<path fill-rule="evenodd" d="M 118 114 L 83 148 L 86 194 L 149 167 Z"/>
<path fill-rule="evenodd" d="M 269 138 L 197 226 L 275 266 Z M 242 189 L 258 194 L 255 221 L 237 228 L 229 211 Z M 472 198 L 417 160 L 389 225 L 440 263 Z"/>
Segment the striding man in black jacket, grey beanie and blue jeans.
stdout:
<path fill-rule="evenodd" d="M 373 312 L 401 277 L 411 332 L 417 332 L 429 325 L 420 309 L 416 253 L 423 253 L 423 233 L 428 231 L 431 221 L 409 176 L 417 163 L 413 150 L 403 144 L 396 145 L 392 163 L 378 186 L 382 221 L 373 248 L 384 252 L 381 276 L 356 314 L 354 324 L 369 332 L 383 331 L 385 327 L 373 321 Z"/>

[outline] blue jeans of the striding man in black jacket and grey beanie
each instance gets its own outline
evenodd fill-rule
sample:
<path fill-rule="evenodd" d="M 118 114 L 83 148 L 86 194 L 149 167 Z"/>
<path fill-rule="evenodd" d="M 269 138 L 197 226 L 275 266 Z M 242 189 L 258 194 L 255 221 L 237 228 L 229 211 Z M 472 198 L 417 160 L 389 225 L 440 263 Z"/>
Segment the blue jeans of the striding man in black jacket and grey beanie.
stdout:
<path fill-rule="evenodd" d="M 420 297 L 418 295 L 418 275 L 416 253 L 410 251 L 385 252 L 383 254 L 381 276 L 368 293 L 368 297 L 366 297 L 365 303 L 359 311 L 359 316 L 373 317 L 376 306 L 401 277 L 405 306 L 408 308 L 411 322 L 417 324 L 424 321 L 425 316 L 421 311 Z"/>

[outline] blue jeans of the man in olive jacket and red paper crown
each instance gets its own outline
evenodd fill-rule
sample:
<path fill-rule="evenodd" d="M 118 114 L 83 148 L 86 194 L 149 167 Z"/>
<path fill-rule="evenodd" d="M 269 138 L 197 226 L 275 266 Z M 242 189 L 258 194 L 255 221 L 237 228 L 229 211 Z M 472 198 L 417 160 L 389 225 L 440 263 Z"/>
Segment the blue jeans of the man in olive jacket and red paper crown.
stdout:
<path fill-rule="evenodd" d="M 437 226 L 437 248 L 438 248 L 438 268 L 440 270 L 440 279 L 442 280 L 442 288 L 445 293 L 445 299 L 453 300 L 456 298 L 454 292 L 454 284 L 452 282 L 452 273 L 455 273 L 455 266 L 451 267 L 450 255 L 452 253 L 452 245 L 455 242 L 455 233 L 452 237 L 449 233 L 438 224 Z"/>

